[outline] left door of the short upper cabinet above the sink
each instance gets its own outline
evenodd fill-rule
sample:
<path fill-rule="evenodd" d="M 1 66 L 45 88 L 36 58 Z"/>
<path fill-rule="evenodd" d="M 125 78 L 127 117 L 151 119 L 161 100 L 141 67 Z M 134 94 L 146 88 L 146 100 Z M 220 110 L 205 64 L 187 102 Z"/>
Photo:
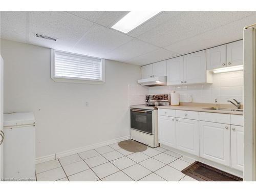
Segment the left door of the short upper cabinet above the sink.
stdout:
<path fill-rule="evenodd" d="M 227 67 L 227 46 L 222 45 L 206 49 L 206 69 L 212 70 Z"/>

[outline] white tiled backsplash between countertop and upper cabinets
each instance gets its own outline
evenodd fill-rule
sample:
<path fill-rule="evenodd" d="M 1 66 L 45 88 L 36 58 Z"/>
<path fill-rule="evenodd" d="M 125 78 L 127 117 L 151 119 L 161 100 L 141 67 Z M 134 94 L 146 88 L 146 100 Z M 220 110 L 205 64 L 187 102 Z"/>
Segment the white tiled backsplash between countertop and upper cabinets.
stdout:
<path fill-rule="evenodd" d="M 163 86 L 151 87 L 149 94 L 164 94 L 176 91 L 180 94 L 180 101 L 186 102 L 187 95 L 191 95 L 193 102 L 230 104 L 227 100 L 237 99 L 243 103 L 243 71 L 215 73 L 214 83 L 196 86 Z"/>

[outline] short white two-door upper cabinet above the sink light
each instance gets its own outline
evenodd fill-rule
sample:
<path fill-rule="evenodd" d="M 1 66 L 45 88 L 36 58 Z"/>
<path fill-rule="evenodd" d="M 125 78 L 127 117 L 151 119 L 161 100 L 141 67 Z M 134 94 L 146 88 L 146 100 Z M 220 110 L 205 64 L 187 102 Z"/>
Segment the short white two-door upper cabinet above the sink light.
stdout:
<path fill-rule="evenodd" d="M 243 65 L 243 40 L 206 50 L 207 70 Z"/>

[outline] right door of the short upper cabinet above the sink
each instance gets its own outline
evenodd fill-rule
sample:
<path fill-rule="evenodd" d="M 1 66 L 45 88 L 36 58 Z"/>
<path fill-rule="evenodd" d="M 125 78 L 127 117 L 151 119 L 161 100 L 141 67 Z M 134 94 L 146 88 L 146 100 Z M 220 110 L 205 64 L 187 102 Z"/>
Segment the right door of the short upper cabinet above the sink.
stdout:
<path fill-rule="evenodd" d="M 227 44 L 227 67 L 243 65 L 243 40 Z"/>

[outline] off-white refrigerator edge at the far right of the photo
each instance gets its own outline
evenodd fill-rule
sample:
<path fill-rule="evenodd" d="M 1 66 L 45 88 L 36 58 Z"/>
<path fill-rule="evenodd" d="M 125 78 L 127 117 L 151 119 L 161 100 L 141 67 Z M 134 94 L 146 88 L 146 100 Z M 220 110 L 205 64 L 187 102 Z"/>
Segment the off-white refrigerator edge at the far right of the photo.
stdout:
<path fill-rule="evenodd" d="M 256 24 L 245 27 L 244 35 L 244 181 L 256 180 Z"/>

